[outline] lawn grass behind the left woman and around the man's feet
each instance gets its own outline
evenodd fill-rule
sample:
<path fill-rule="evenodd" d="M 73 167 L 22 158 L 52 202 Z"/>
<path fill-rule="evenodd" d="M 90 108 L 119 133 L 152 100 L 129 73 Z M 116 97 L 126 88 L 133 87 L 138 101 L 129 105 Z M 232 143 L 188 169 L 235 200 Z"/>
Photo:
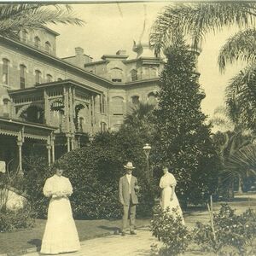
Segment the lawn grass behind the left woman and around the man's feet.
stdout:
<path fill-rule="evenodd" d="M 149 219 L 137 219 L 137 226 L 149 224 Z M 14 232 L 0 233 L 0 254 L 26 252 L 26 249 L 40 247 L 44 235 L 46 220 L 37 219 L 36 225 L 31 230 L 19 230 Z M 121 220 L 76 220 L 79 232 L 79 240 L 108 236 L 109 232 L 119 230 Z"/>

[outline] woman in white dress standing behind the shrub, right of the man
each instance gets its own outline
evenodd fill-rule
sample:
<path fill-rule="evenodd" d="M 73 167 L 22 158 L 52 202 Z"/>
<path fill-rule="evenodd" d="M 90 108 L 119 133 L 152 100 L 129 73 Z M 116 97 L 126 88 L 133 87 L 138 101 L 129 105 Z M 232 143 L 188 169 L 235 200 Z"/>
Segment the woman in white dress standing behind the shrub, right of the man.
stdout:
<path fill-rule="evenodd" d="M 172 173 L 168 172 L 168 167 L 163 167 L 164 175 L 160 178 L 160 189 L 161 197 L 160 197 L 160 206 L 163 210 L 167 210 L 170 214 L 175 214 L 173 212 L 177 211 L 177 214 L 182 218 L 182 223 L 184 223 L 183 212 L 181 207 L 179 206 L 179 202 L 177 200 L 177 195 L 175 193 L 175 186 L 177 184 L 175 177 Z"/>

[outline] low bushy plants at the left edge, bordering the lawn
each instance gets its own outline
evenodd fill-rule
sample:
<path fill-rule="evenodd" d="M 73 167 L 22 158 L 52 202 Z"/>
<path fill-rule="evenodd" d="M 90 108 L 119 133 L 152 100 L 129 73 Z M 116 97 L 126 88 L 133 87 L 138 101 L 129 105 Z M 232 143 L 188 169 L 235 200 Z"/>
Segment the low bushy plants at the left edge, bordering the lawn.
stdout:
<path fill-rule="evenodd" d="M 0 232 L 32 228 L 35 217 L 35 212 L 29 206 L 17 211 L 0 211 Z"/>

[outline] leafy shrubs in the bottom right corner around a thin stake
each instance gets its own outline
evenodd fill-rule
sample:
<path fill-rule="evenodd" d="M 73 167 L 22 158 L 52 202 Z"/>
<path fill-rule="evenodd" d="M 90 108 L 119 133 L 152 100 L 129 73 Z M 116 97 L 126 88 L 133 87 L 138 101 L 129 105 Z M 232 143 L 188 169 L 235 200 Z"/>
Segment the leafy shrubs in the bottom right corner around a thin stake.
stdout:
<path fill-rule="evenodd" d="M 213 215 L 215 230 L 214 239 L 210 224 L 197 223 L 193 231 L 193 239 L 204 252 L 214 252 L 218 255 L 229 255 L 226 250 L 232 250 L 230 255 L 252 255 L 253 239 L 256 237 L 256 213 L 247 209 L 241 215 L 236 215 L 227 204 L 220 207 L 218 214 Z"/>

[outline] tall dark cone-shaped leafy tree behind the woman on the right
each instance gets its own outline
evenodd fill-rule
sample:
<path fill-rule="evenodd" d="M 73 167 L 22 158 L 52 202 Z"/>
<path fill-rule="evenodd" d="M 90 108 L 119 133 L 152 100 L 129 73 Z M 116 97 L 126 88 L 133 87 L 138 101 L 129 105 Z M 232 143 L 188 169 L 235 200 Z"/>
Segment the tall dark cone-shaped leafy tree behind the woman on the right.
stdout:
<path fill-rule="evenodd" d="M 178 197 L 198 204 L 217 188 L 218 154 L 201 112 L 205 95 L 195 73 L 195 53 L 181 41 L 168 50 L 167 57 L 154 110 L 154 162 L 169 163 L 177 178 Z"/>

